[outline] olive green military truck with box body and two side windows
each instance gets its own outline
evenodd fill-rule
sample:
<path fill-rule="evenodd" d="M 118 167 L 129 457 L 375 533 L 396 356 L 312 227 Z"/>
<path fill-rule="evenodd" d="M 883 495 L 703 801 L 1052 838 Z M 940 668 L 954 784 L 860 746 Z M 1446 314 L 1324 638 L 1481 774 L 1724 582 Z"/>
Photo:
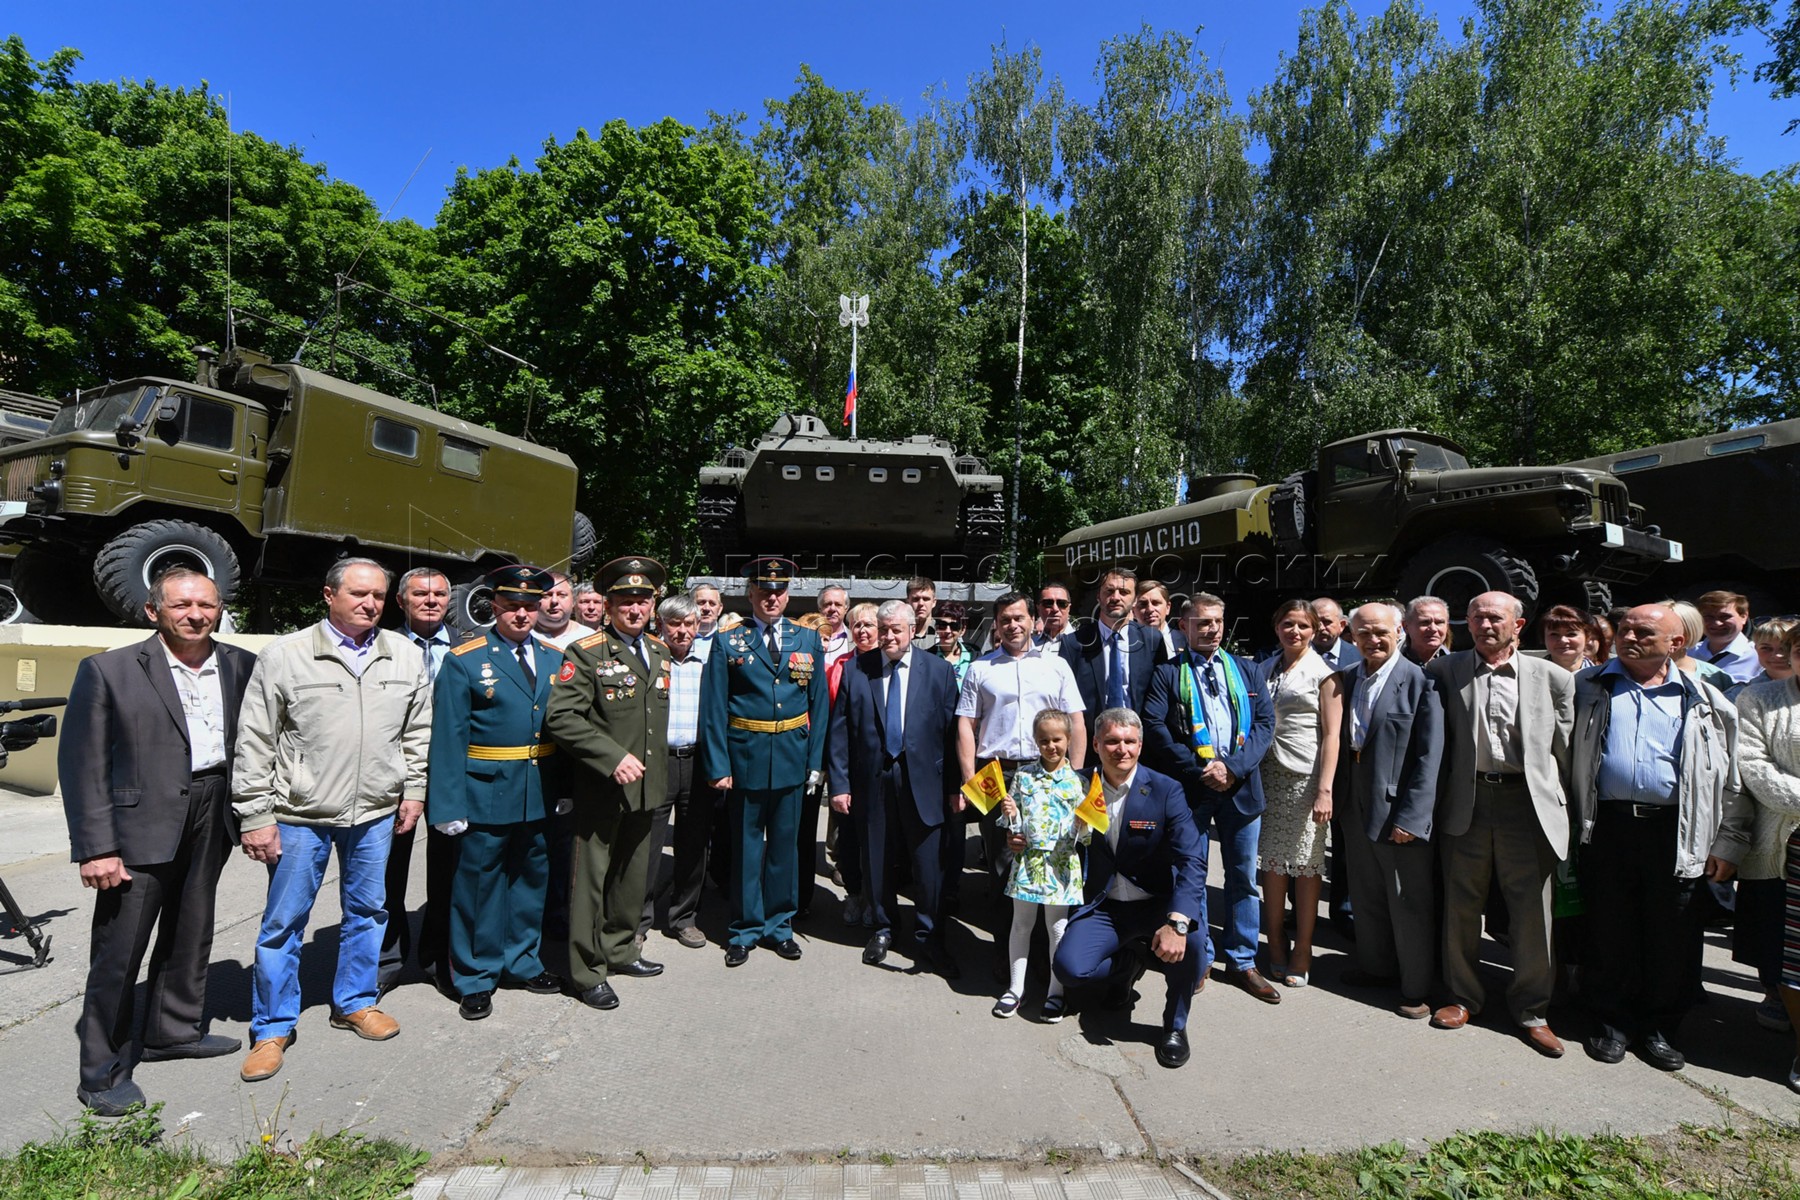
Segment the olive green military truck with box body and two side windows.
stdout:
<path fill-rule="evenodd" d="M 317 585 L 331 561 L 437 567 L 479 622 L 479 578 L 594 552 L 563 453 L 252 351 L 200 354 L 196 381 L 133 378 L 63 403 L 0 450 L 13 588 L 70 624 L 140 621 L 149 581 L 205 570 Z"/>

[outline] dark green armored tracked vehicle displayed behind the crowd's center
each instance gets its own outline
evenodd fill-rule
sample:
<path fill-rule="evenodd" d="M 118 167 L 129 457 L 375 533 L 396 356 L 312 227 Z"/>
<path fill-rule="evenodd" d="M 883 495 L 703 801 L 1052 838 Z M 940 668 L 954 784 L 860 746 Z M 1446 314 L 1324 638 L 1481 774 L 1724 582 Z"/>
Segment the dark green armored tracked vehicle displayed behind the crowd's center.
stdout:
<path fill-rule="evenodd" d="M 787 414 L 700 468 L 698 516 L 722 576 L 785 554 L 808 572 L 985 579 L 1006 509 L 1001 477 L 940 437 L 832 437 L 819 417 Z"/>

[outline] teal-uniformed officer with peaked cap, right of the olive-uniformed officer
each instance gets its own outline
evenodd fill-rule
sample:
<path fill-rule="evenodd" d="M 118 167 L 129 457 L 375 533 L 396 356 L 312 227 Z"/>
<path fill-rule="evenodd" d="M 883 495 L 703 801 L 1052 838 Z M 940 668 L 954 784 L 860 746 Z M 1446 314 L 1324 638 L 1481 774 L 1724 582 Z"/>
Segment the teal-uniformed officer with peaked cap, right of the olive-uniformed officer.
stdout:
<path fill-rule="evenodd" d="M 758 941 L 799 957 L 801 795 L 819 777 L 830 698 L 819 635 L 781 613 L 796 567 L 760 558 L 745 572 L 752 621 L 713 639 L 700 675 L 698 777 L 725 792 L 731 941 L 742 966 Z M 806 869 L 812 864 L 805 864 Z"/>

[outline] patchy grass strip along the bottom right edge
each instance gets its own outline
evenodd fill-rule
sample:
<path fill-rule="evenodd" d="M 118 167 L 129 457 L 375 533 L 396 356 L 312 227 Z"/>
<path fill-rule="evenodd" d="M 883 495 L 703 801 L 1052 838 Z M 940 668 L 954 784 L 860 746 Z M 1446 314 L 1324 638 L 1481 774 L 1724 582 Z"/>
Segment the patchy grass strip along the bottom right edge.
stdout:
<path fill-rule="evenodd" d="M 1237 1200 L 1800 1198 L 1800 1128 L 1685 1126 L 1661 1137 L 1456 1133 L 1334 1155 L 1197 1160 Z"/>

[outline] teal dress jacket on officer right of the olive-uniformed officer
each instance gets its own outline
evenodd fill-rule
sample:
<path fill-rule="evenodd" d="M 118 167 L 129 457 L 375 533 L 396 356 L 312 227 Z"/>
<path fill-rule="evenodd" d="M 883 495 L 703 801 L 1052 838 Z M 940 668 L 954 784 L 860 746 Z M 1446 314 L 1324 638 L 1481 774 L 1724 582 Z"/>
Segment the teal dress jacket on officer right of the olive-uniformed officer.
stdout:
<path fill-rule="evenodd" d="M 778 622 L 781 662 L 756 626 L 715 635 L 700 675 L 700 779 L 731 775 L 740 792 L 799 788 L 824 763 L 832 712 L 819 635 L 787 617 Z M 806 718 L 806 720 L 801 720 Z M 734 723 L 736 721 L 736 723 Z M 754 721 L 756 727 L 743 727 Z M 770 732 L 770 725 L 796 721 Z"/>

